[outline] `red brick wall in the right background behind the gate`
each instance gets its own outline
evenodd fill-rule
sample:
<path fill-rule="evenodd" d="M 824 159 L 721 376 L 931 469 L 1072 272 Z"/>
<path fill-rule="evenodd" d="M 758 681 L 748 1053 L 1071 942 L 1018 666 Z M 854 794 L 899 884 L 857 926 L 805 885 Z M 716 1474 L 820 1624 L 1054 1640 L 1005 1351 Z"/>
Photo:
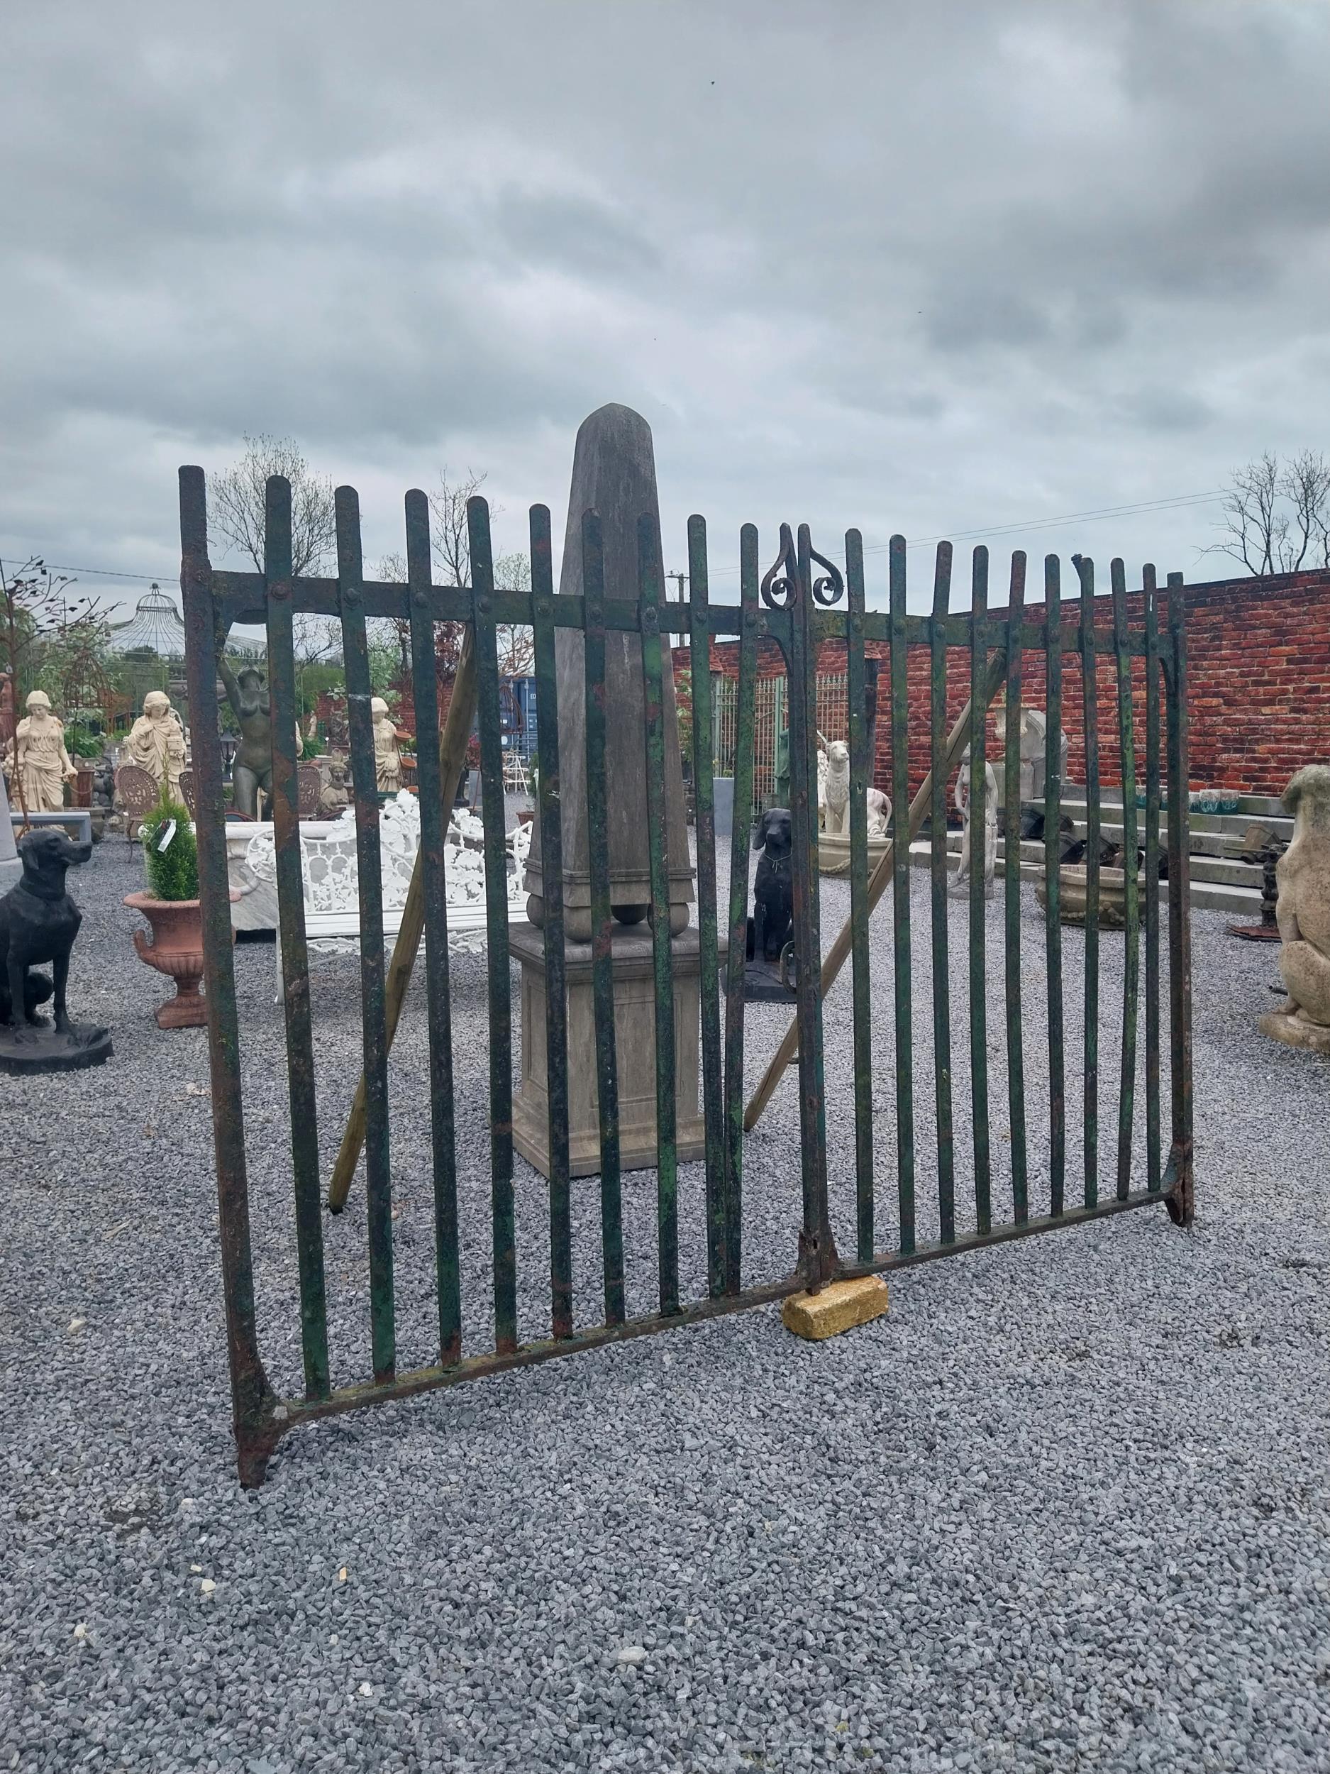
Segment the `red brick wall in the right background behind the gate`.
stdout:
<path fill-rule="evenodd" d="M 1117 672 L 1112 658 L 1112 610 L 1108 598 L 1096 600 L 1101 656 L 1098 672 L 1099 775 L 1107 786 L 1121 784 L 1117 734 Z M 1064 623 L 1076 621 L 1078 607 L 1062 605 Z M 1130 623 L 1140 628 L 1142 598 L 1128 598 Z M 995 610 L 1000 617 L 1004 612 Z M 1032 621 L 1043 605 L 1030 605 Z M 1163 628 L 1163 608 L 1162 624 Z M 874 781 L 890 788 L 892 736 L 888 708 L 888 649 L 871 642 L 869 655 L 883 660 L 878 679 L 878 752 Z M 1305 763 L 1330 761 L 1330 571 L 1289 573 L 1275 578 L 1217 580 L 1186 587 L 1188 711 L 1192 738 L 1192 786 L 1215 784 L 1247 795 L 1282 795 L 1289 777 Z M 1107 656 L 1105 656 L 1107 655 Z M 686 663 L 686 649 L 676 655 Z M 842 642 L 821 648 L 818 669 L 842 672 Z M 713 648 L 713 667 L 738 674 L 738 646 Z M 759 674 L 778 676 L 784 662 L 773 642 L 759 651 Z M 910 683 L 910 791 L 927 770 L 929 749 L 929 656 L 911 648 Z M 961 713 L 970 688 L 970 662 L 961 649 L 949 655 L 947 724 Z M 1023 701 L 1044 706 L 1043 653 L 1023 655 Z M 1135 662 L 1133 710 L 1137 772 L 1144 770 L 1146 676 Z M 1069 742 L 1068 770 L 1073 782 L 1085 781 L 1082 734 L 1082 674 L 1076 656 L 1062 660 L 1062 727 Z M 832 734 L 835 738 L 837 734 Z M 993 747 L 990 717 L 990 747 Z M 993 752 L 990 750 L 990 757 Z"/>

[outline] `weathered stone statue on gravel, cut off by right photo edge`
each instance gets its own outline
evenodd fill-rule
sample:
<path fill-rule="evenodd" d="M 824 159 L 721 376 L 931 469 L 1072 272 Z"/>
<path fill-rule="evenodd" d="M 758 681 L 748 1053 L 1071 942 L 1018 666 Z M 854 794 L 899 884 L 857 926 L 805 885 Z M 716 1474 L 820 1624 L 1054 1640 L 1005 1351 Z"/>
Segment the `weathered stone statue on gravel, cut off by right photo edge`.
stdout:
<path fill-rule="evenodd" d="M 1275 867 L 1282 1009 L 1266 1011 L 1261 1034 L 1330 1054 L 1330 765 L 1305 765 L 1284 789 L 1293 841 Z"/>

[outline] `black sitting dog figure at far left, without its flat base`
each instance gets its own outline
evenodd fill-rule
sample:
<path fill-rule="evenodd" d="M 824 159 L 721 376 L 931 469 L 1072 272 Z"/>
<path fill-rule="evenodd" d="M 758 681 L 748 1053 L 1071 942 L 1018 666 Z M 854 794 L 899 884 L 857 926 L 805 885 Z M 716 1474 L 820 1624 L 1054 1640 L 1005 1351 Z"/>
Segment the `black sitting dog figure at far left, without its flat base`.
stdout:
<path fill-rule="evenodd" d="M 23 878 L 0 899 L 0 1027 L 9 1025 L 11 1040 L 21 1038 L 25 1022 L 44 1027 L 35 1009 L 53 995 L 57 1032 L 74 1034 L 66 981 L 83 914 L 64 891 L 64 876 L 66 869 L 89 860 L 92 844 L 74 844 L 64 832 L 43 827 L 25 832 L 18 853 Z M 44 962 L 51 962 L 53 979 L 30 970 Z M 76 1032 L 80 1043 L 105 1034 L 101 1029 Z"/>

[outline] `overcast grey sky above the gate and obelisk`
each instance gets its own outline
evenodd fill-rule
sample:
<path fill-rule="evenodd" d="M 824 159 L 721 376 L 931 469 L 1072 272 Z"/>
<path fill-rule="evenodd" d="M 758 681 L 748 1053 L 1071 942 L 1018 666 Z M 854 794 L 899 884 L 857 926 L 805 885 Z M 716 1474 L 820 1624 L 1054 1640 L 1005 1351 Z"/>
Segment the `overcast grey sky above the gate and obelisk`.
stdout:
<path fill-rule="evenodd" d="M 624 401 L 720 596 L 782 518 L 1222 577 L 1213 504 L 1032 523 L 1330 447 L 1323 0 L 48 0 L 5 46 L 5 561 L 172 582 L 176 467 L 246 431 L 371 561 L 443 463 L 523 546 Z"/>

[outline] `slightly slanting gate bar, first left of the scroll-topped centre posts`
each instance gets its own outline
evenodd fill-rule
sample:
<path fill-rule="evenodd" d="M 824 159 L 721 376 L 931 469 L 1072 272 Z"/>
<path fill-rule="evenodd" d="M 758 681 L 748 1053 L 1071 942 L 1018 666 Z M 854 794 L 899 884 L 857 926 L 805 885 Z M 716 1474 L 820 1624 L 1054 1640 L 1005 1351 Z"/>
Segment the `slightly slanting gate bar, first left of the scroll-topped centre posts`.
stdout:
<path fill-rule="evenodd" d="M 757 697 L 757 530 L 739 530 L 739 687 L 734 708 L 734 823 L 729 852 L 725 954 L 725 1293 L 741 1286 L 743 1256 L 743 963 L 748 946 L 748 832 L 752 827 Z"/>

